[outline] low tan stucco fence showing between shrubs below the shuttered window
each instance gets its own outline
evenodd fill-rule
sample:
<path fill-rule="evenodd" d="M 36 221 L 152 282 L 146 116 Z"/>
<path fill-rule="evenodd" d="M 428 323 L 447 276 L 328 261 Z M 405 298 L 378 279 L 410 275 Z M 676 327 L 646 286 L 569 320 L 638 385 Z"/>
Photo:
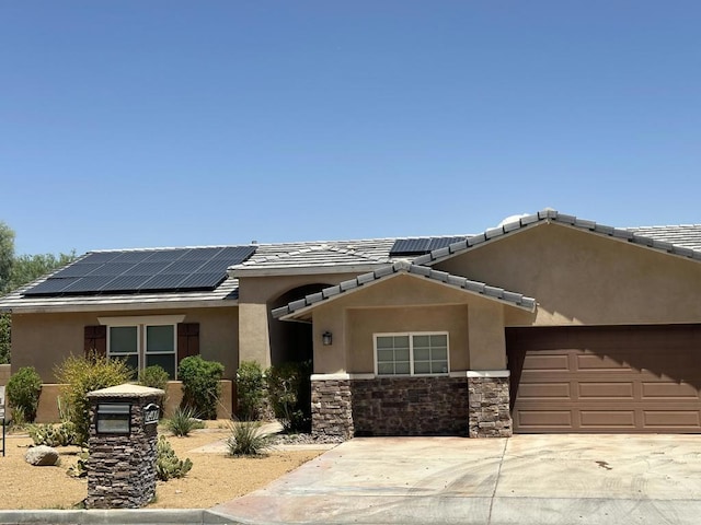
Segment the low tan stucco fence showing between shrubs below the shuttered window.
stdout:
<path fill-rule="evenodd" d="M 0 372 L 1 373 L 1 372 Z M 0 378 L 2 376 L 0 375 Z M 0 384 L 3 384 L 0 381 Z M 219 405 L 217 406 L 217 419 L 231 419 L 231 407 L 235 402 L 235 393 L 233 388 L 233 382 L 230 380 L 222 380 L 221 384 L 221 397 Z M 58 398 L 64 385 L 57 383 L 45 383 L 42 385 L 42 394 L 39 395 L 39 407 L 36 411 L 37 423 L 56 423 L 60 421 L 58 413 Z M 180 405 L 183 399 L 183 388 L 180 381 L 171 381 L 168 383 L 168 396 L 165 400 L 165 416 L 173 413 L 173 410 Z"/>

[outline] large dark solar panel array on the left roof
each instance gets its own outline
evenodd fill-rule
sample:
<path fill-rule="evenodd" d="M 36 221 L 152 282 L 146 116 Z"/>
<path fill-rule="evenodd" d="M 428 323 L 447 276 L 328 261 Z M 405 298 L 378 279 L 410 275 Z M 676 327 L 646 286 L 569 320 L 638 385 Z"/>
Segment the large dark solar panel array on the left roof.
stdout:
<path fill-rule="evenodd" d="M 214 290 L 227 268 L 255 246 L 96 252 L 64 268 L 25 295 L 93 295 Z"/>

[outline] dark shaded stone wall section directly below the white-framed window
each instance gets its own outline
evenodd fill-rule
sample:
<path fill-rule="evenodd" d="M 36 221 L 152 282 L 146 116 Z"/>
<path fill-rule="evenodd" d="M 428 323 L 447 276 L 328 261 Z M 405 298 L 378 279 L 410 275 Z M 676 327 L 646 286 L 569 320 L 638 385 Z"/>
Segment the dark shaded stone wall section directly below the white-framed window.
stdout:
<path fill-rule="evenodd" d="M 466 435 L 466 377 L 376 377 L 353 381 L 356 435 Z"/>

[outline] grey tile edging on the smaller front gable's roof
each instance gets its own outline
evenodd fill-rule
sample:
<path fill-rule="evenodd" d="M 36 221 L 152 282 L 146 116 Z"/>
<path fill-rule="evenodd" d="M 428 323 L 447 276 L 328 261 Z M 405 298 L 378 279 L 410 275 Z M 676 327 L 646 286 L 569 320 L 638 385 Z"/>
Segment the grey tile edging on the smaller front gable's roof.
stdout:
<path fill-rule="evenodd" d="M 363 273 L 355 279 L 344 281 L 335 287 L 330 287 L 322 290 L 321 292 L 312 293 L 298 301 L 292 301 L 286 306 L 275 308 L 273 311 L 273 317 L 280 318 L 290 316 L 292 314 L 307 312 L 319 303 L 334 300 L 344 293 L 356 291 L 364 285 L 395 277 L 400 273 L 424 277 L 432 281 L 447 284 L 458 290 L 464 290 L 467 292 L 475 293 L 487 299 L 509 303 L 513 306 L 518 306 L 520 308 L 528 310 L 529 312 L 532 312 L 536 308 L 536 300 L 532 298 L 527 298 L 524 294 L 509 292 L 507 290 L 504 290 L 503 288 L 490 287 L 483 282 L 472 281 L 464 277 L 452 276 L 445 271 L 434 270 L 426 266 L 417 266 L 407 260 L 398 260 L 375 271 Z"/>

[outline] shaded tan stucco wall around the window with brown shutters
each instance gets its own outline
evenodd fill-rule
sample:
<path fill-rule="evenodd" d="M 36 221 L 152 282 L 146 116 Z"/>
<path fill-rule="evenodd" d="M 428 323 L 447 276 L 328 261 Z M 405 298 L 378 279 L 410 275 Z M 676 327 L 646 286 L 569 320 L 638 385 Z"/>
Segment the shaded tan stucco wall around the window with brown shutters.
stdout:
<path fill-rule="evenodd" d="M 204 359 L 225 365 L 225 378 L 233 378 L 239 363 L 237 308 L 139 311 L 138 315 L 185 314 L 186 323 L 199 323 L 199 349 Z M 83 327 L 100 324 L 97 317 L 124 312 L 13 314 L 12 370 L 34 366 L 45 383 L 55 383 L 54 368 L 71 353 L 83 354 Z"/>

